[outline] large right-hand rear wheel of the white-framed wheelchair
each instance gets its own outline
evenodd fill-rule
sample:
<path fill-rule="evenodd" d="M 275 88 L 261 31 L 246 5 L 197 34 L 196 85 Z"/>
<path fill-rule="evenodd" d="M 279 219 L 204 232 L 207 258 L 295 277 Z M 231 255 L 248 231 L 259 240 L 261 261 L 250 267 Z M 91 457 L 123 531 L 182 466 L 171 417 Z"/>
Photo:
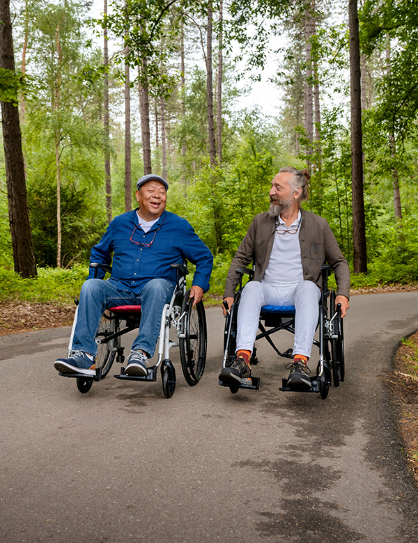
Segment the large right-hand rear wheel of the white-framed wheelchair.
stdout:
<path fill-rule="evenodd" d="M 185 293 L 181 314 L 185 317 L 181 321 L 180 332 L 184 338 L 180 338 L 180 361 L 183 375 L 187 384 L 194 386 L 203 375 L 206 363 L 206 316 L 203 302 L 196 306 L 189 299 L 189 290 Z"/>

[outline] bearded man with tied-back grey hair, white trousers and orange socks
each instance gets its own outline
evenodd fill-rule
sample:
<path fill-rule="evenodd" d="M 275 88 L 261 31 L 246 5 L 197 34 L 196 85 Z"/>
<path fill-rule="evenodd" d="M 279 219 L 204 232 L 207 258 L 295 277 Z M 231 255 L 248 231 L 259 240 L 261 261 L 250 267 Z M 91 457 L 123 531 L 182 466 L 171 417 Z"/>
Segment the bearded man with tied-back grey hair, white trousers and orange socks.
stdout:
<path fill-rule="evenodd" d="M 309 173 L 281 168 L 272 180 L 270 209 L 256 215 L 233 258 L 226 278 L 224 301 L 231 308 L 239 277 L 236 269 L 254 263 L 254 279 L 242 290 L 237 321 L 237 359 L 219 379 L 236 385 L 251 376 L 249 361 L 263 306 L 295 306 L 295 343 L 289 386 L 310 388 L 311 356 L 322 285 L 321 265 L 334 268 L 336 304 L 348 310 L 350 270 L 330 226 L 323 217 L 303 210 L 308 199 Z M 224 308 L 224 315 L 226 309 Z"/>

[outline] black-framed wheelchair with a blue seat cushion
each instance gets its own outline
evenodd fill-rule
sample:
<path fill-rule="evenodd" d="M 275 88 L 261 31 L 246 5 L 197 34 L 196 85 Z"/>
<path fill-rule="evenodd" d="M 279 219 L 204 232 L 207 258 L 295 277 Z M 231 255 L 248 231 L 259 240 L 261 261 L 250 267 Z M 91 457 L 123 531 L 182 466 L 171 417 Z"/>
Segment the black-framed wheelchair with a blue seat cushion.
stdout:
<path fill-rule="evenodd" d="M 229 367 L 236 360 L 236 333 L 237 333 L 237 315 L 238 306 L 242 294 L 242 279 L 245 274 L 249 275 L 249 281 L 254 276 L 254 270 L 249 268 L 239 268 L 236 273 L 240 276 L 238 291 L 235 294 L 235 299 L 229 310 L 226 302 L 224 306 L 227 310 L 225 329 L 224 329 L 224 361 L 223 367 Z M 328 276 L 331 274 L 329 265 L 321 266 L 321 274 L 323 280 L 323 288 L 319 301 L 319 340 L 314 339 L 314 345 L 319 349 L 319 361 L 316 367 L 316 375 L 310 377 L 311 388 L 308 390 L 288 386 L 287 379 L 282 379 L 282 386 L 279 388 L 283 392 L 316 392 L 320 393 L 320 397 L 325 400 L 330 385 L 339 386 L 340 382 L 344 381 L 345 365 L 344 365 L 344 333 L 343 320 L 341 318 L 341 304 L 335 304 L 335 290 L 328 290 Z M 328 315 L 327 301 L 330 298 L 330 315 Z M 292 359 L 293 349 L 287 349 L 286 352 L 280 352 L 274 345 L 271 338 L 274 332 L 286 330 L 295 333 L 295 307 L 294 306 L 263 306 L 261 308 L 260 320 L 258 322 L 258 330 L 260 333 L 256 336 L 256 341 L 265 338 L 272 346 L 274 351 L 281 357 Z M 251 354 L 251 365 L 258 363 L 257 349 Z M 242 379 L 240 384 L 229 385 L 224 384 L 219 380 L 219 385 L 229 387 L 231 393 L 235 394 L 240 388 L 248 388 L 258 390 L 260 384 L 259 377 L 249 377 Z"/>

